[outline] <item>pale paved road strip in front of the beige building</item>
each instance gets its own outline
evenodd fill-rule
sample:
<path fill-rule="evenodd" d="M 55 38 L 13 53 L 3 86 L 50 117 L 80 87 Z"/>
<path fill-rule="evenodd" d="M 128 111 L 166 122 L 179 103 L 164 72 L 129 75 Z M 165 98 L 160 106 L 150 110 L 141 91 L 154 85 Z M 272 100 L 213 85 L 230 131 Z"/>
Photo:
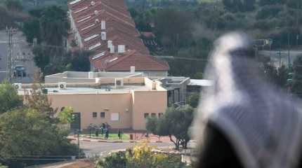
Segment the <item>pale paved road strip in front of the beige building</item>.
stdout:
<path fill-rule="evenodd" d="M 77 144 L 77 141 L 72 141 Z M 134 143 L 107 143 L 107 142 L 88 142 L 80 141 L 80 148 L 83 149 L 86 156 L 100 155 L 100 153 L 109 153 L 110 151 L 121 150 L 136 146 Z M 150 146 L 165 147 L 173 146 L 170 142 L 150 143 Z"/>

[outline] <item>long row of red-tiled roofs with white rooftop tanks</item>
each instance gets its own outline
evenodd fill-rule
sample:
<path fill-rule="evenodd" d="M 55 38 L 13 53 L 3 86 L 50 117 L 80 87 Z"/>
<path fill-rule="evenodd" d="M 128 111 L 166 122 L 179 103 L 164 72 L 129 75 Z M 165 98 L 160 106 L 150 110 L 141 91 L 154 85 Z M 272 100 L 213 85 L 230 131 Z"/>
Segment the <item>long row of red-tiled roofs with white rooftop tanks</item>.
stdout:
<path fill-rule="evenodd" d="M 126 8 L 124 0 L 72 0 L 70 50 L 88 50 L 96 71 L 140 71 L 166 76 L 167 62 L 152 57 Z M 70 44 L 76 43 L 77 46 Z"/>

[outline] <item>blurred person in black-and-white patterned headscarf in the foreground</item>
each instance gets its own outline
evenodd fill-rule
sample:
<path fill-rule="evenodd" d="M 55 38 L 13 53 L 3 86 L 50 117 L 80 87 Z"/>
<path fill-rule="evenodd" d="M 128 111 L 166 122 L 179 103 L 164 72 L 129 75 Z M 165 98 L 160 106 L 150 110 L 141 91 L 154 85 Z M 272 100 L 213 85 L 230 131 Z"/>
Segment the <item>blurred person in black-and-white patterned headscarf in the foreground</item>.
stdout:
<path fill-rule="evenodd" d="M 250 40 L 228 34 L 216 42 L 193 134 L 200 168 L 301 167 L 302 113 L 258 75 Z"/>

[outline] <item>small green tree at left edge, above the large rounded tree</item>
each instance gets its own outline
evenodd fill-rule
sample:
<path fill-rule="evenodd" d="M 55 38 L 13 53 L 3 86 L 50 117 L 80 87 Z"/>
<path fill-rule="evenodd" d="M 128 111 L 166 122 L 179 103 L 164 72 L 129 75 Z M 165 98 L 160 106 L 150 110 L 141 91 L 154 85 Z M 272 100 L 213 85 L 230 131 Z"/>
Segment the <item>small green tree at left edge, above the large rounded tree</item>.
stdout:
<path fill-rule="evenodd" d="M 18 95 L 13 85 L 4 81 L 0 84 L 0 115 L 22 106 L 22 97 Z"/>

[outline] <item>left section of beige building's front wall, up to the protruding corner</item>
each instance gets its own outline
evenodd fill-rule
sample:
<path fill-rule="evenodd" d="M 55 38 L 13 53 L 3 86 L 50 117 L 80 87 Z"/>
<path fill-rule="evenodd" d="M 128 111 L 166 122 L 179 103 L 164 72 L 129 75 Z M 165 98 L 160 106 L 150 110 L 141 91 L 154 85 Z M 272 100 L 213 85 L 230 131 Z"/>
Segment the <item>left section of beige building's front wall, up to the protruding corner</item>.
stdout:
<path fill-rule="evenodd" d="M 52 107 L 59 110 L 71 106 L 74 113 L 81 113 L 81 129 L 88 125 L 108 123 L 113 129 L 129 129 L 132 127 L 131 94 L 49 94 Z M 92 113 L 98 116 L 93 118 Z M 100 118 L 100 112 L 105 112 L 105 118 Z M 112 121 L 111 113 L 119 113 L 119 121 Z"/>

